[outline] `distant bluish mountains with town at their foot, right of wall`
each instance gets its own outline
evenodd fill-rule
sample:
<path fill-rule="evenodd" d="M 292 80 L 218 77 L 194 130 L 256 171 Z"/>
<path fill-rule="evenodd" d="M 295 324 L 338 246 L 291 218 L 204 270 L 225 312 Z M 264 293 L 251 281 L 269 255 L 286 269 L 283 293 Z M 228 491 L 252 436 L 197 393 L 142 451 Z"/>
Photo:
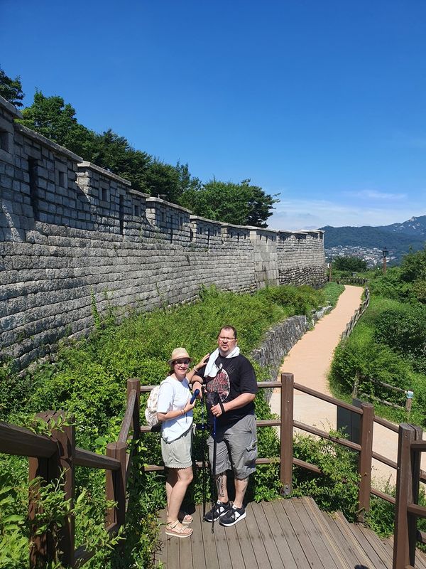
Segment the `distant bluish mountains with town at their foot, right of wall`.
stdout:
<path fill-rule="evenodd" d="M 410 248 L 417 251 L 426 245 L 426 216 L 410 218 L 403 223 L 370 227 L 332 227 L 326 225 L 324 248 L 361 247 L 383 249 L 386 247 L 395 257 L 402 257 Z"/>

